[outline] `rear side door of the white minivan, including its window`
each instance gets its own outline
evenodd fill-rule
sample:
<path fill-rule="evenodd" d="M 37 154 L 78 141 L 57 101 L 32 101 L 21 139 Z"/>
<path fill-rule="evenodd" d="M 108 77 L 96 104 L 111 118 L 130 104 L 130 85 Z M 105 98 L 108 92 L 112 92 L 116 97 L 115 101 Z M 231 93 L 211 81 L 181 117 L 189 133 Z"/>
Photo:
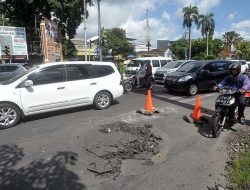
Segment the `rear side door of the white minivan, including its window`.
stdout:
<path fill-rule="evenodd" d="M 66 65 L 68 101 L 71 105 L 92 103 L 98 82 L 92 76 L 92 65 Z"/>

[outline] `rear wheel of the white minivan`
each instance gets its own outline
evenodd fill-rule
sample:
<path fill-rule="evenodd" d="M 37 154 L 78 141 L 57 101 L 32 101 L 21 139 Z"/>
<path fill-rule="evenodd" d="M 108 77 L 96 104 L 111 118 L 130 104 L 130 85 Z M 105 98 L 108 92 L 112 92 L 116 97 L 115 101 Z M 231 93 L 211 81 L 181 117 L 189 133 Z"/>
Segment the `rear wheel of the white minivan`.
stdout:
<path fill-rule="evenodd" d="M 112 97 L 109 92 L 101 91 L 98 92 L 94 98 L 94 106 L 99 110 L 109 108 L 112 102 Z"/>

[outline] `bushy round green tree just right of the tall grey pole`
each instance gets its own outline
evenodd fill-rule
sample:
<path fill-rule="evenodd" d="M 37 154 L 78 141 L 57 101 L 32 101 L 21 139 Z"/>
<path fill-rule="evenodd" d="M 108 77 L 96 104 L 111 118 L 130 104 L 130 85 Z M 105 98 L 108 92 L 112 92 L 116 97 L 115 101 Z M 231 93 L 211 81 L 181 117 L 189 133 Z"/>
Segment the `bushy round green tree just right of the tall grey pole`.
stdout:
<path fill-rule="evenodd" d="M 126 57 L 134 50 L 133 45 L 127 40 L 125 30 L 123 29 L 106 29 L 103 36 L 104 55 L 111 50 L 113 57 L 117 55 Z"/>

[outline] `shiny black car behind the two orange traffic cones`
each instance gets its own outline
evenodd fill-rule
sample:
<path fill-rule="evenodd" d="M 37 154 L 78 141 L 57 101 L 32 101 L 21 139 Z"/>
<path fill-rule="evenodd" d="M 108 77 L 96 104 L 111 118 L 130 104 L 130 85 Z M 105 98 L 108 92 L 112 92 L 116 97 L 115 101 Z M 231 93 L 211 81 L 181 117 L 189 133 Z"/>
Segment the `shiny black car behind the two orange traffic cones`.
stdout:
<path fill-rule="evenodd" d="M 209 90 L 211 82 L 221 82 L 229 75 L 232 62 L 226 60 L 194 61 L 183 65 L 178 71 L 167 75 L 164 86 L 169 90 L 195 95 Z"/>

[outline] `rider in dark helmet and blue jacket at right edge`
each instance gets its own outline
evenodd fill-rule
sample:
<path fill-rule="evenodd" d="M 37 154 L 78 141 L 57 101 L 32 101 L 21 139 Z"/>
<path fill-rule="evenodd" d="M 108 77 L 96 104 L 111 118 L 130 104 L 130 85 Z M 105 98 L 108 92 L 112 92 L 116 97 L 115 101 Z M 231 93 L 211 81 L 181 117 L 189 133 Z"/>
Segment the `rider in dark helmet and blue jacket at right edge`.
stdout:
<path fill-rule="evenodd" d="M 224 86 L 229 86 L 232 88 L 239 89 L 239 93 L 235 94 L 235 108 L 238 105 L 238 118 L 237 122 L 245 125 L 244 121 L 244 110 L 246 107 L 246 99 L 244 97 L 244 92 L 249 89 L 250 81 L 248 76 L 241 74 L 241 64 L 236 62 L 229 66 L 230 75 L 227 76 L 221 83 L 214 87 L 214 90 L 221 89 Z M 232 114 L 232 113 L 231 113 Z M 233 117 L 230 117 L 233 118 Z"/>

